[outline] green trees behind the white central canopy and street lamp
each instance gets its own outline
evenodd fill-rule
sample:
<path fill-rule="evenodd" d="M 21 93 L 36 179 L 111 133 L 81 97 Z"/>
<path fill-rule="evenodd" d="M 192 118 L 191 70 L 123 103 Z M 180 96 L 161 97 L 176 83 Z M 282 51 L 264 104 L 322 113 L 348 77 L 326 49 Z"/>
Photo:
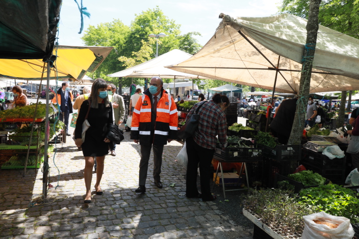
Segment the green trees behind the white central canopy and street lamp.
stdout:
<path fill-rule="evenodd" d="M 156 55 L 156 40 L 159 43 L 159 55 L 173 49 L 180 49 L 190 54 L 195 54 L 201 46 L 193 37 L 200 35 L 198 32 L 189 32 L 180 35 L 180 25 L 175 20 L 169 19 L 157 6 L 154 9 L 142 11 L 136 15 L 130 26 L 126 26 L 120 19 L 112 22 L 101 23 L 97 26 L 89 26 L 81 38 L 87 46 L 113 46 L 113 50 L 100 67 L 88 74 L 92 78 L 101 77 L 107 81 L 121 83 L 130 86 L 131 83 L 144 84 L 144 79 L 122 78 L 121 80 L 106 75 L 124 70 L 150 60 Z M 154 39 L 149 34 L 165 33 L 166 37 Z M 173 82 L 171 79 L 164 80 Z"/>

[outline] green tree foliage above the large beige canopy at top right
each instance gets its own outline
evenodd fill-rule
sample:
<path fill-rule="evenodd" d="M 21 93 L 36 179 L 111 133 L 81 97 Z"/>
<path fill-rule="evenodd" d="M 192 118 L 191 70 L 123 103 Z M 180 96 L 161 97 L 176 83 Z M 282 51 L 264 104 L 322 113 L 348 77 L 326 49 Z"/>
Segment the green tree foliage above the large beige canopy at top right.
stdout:
<path fill-rule="evenodd" d="M 359 30 L 359 0 L 322 0 L 319 8 L 319 24 L 351 34 Z M 283 0 L 279 12 L 308 18 L 309 0 Z M 358 35 L 351 35 L 359 38 Z"/>

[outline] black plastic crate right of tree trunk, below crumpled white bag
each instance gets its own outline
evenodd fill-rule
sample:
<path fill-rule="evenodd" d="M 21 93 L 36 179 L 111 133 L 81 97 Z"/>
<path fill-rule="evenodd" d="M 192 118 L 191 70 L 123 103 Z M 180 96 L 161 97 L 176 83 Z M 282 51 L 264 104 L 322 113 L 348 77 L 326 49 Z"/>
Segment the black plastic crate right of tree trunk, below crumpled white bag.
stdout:
<path fill-rule="evenodd" d="M 314 152 L 310 149 L 302 149 L 302 161 L 322 169 L 345 169 L 346 157 L 329 159 L 321 152 Z"/>

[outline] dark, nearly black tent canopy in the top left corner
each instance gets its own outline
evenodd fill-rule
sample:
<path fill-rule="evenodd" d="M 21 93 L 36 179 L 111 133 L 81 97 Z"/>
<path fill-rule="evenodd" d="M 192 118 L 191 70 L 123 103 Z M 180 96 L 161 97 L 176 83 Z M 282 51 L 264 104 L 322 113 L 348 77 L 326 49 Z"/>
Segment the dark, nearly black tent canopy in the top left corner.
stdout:
<path fill-rule="evenodd" d="M 1 1 L 0 58 L 50 59 L 61 1 Z"/>

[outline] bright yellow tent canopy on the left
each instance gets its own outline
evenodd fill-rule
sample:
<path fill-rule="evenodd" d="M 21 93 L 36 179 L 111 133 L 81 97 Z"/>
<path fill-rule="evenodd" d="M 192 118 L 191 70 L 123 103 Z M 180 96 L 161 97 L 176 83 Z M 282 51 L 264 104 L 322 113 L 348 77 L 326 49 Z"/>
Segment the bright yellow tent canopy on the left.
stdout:
<path fill-rule="evenodd" d="M 96 70 L 112 49 L 113 47 L 58 46 L 55 62 L 58 79 L 81 80 L 86 72 Z M 43 66 L 42 59 L 0 59 L 0 77 L 40 80 Z M 50 79 L 56 79 L 55 68 L 51 69 Z"/>

